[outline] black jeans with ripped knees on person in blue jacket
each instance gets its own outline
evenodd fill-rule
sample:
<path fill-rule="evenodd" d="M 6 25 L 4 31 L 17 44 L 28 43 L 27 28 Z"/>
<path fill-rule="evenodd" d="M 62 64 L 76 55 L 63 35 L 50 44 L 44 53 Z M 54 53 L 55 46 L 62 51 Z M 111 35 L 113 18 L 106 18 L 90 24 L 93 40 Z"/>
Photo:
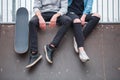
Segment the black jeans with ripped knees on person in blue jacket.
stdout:
<path fill-rule="evenodd" d="M 74 19 L 80 19 L 82 16 L 82 15 L 77 15 L 74 12 L 69 12 L 67 15 L 71 17 L 72 21 L 74 21 Z M 88 23 L 86 24 L 86 27 L 84 29 L 81 23 L 73 22 L 72 28 L 78 47 L 84 46 L 84 39 L 92 32 L 92 30 L 98 24 L 99 20 L 100 18 L 96 16 L 92 16 L 92 14 L 87 14 L 85 21 Z"/>

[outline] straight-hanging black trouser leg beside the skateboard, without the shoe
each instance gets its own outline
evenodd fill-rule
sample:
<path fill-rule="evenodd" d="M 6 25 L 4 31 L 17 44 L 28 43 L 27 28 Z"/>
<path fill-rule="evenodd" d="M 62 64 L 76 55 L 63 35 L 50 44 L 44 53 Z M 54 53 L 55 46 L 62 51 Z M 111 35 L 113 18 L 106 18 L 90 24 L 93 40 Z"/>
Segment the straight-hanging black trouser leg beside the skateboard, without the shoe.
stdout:
<path fill-rule="evenodd" d="M 29 22 L 30 52 L 38 52 L 38 39 L 37 39 L 38 27 L 39 20 L 37 16 L 34 16 Z"/>

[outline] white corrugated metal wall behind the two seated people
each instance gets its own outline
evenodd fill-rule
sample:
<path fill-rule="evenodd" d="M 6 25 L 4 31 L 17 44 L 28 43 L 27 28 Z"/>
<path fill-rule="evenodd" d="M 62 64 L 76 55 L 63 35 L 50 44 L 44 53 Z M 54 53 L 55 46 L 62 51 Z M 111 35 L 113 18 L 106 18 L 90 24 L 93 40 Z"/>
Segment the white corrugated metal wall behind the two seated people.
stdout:
<path fill-rule="evenodd" d="M 15 22 L 18 8 L 26 7 L 32 17 L 34 0 L 0 0 L 0 22 Z M 92 12 L 101 15 L 100 22 L 120 22 L 120 0 L 94 0 Z"/>

